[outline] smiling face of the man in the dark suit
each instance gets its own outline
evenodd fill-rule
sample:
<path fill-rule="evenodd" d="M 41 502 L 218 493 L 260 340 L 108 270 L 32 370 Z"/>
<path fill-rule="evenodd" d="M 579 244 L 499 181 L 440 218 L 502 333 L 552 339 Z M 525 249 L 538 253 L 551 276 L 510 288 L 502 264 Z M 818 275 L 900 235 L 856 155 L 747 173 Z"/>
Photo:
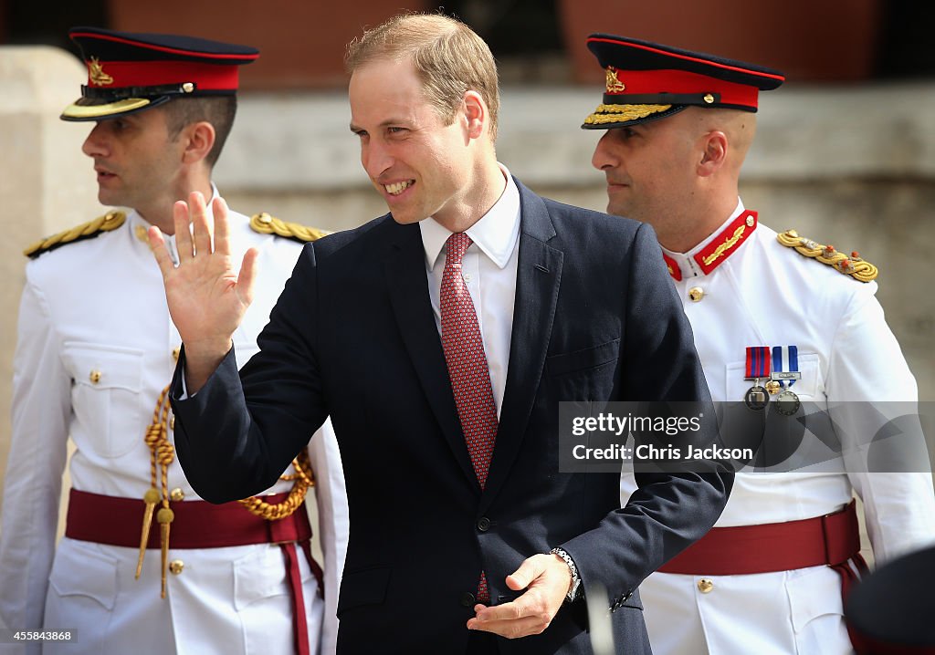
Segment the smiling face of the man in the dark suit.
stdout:
<path fill-rule="evenodd" d="M 432 216 L 456 225 L 477 211 L 475 180 L 483 155 L 465 103 L 446 124 L 408 59 L 355 69 L 349 95 L 361 164 L 396 222 Z"/>

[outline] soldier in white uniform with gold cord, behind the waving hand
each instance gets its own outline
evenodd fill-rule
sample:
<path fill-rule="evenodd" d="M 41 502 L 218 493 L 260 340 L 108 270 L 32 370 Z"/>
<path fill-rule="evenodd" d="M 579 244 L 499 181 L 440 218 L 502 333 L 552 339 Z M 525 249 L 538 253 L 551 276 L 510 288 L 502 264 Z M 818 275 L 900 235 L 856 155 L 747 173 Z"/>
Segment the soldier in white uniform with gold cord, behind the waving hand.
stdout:
<path fill-rule="evenodd" d="M 211 169 L 234 120 L 238 65 L 258 52 L 95 28 L 71 36 L 89 81 L 62 118 L 94 121 L 83 150 L 94 160 L 98 198 L 133 210 L 109 211 L 26 252 L 33 259 L 14 364 L 0 621 L 72 632 L 68 641 L 0 651 L 334 652 L 347 506 L 330 424 L 265 495 L 210 505 L 174 457 L 163 392 L 180 337 L 146 231 L 171 232 L 173 203 L 190 192 L 217 195 Z M 242 364 L 257 350 L 301 242 L 322 233 L 267 214 L 230 216 L 237 257 L 257 253 L 256 297 L 235 337 Z M 72 489 L 56 548 L 69 438 Z M 324 578 L 303 505 L 312 481 Z"/>

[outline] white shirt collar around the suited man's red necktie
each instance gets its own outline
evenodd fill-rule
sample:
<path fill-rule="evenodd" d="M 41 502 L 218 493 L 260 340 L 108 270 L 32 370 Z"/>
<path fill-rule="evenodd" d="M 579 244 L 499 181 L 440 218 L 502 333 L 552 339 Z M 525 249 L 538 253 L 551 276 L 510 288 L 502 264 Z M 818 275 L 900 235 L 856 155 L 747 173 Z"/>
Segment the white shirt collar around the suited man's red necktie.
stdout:
<path fill-rule="evenodd" d="M 490 211 L 468 228 L 467 234 L 492 262 L 504 268 L 510 261 L 520 234 L 520 192 L 507 167 L 497 165 L 507 180 L 507 186 Z M 439 261 L 441 249 L 452 232 L 432 217 L 419 221 L 419 229 L 422 231 L 425 263 L 431 271 Z"/>

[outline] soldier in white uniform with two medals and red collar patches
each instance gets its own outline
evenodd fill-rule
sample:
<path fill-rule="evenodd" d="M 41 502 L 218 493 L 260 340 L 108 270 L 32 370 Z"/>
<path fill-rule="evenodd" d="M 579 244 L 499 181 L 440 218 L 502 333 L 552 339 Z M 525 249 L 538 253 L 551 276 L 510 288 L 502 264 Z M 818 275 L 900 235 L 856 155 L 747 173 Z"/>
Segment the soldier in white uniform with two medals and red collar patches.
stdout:
<path fill-rule="evenodd" d="M 885 422 L 861 408 L 885 415 L 885 402 L 917 396 L 874 297 L 876 270 L 857 253 L 777 235 L 741 203 L 757 94 L 780 73 L 621 36 L 592 35 L 588 47 L 607 75 L 583 127 L 607 130 L 593 164 L 607 176 L 608 211 L 654 226 L 712 398 L 745 401 L 761 427 L 767 413 L 827 409 L 835 427 L 826 414 L 816 429 L 851 453 L 817 472 L 737 474 L 711 533 L 640 587 L 654 652 L 850 652 L 842 589 L 863 568 L 854 493 L 877 562 L 935 538 L 925 466 L 871 472 L 855 456 Z M 632 476 L 622 487 L 626 498 Z"/>

